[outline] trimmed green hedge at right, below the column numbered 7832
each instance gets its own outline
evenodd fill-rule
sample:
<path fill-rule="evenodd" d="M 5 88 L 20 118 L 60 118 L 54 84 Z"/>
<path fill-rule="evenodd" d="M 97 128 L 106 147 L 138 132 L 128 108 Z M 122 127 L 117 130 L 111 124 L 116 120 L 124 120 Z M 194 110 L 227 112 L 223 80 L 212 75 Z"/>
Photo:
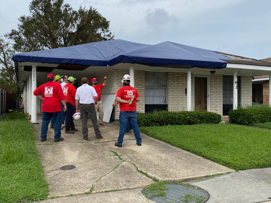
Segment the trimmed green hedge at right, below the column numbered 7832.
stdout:
<path fill-rule="evenodd" d="M 229 111 L 229 121 L 233 124 L 253 126 L 254 123 L 270 123 L 271 108 L 250 107 Z"/>

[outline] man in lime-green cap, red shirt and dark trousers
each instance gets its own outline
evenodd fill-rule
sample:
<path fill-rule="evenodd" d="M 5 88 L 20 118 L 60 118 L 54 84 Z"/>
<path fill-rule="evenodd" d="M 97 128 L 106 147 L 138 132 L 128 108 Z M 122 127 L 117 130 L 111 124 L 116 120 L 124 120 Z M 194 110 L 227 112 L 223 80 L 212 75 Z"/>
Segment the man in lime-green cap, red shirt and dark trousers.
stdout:
<path fill-rule="evenodd" d="M 78 131 L 77 128 L 74 127 L 73 123 L 73 114 L 75 113 L 75 93 L 76 89 L 73 86 L 76 78 L 69 77 L 68 84 L 66 84 L 63 88 L 63 93 L 65 96 L 65 101 L 67 105 L 67 115 L 65 119 L 65 133 L 74 133 L 74 131 Z M 61 86 L 60 86 L 61 87 Z"/>

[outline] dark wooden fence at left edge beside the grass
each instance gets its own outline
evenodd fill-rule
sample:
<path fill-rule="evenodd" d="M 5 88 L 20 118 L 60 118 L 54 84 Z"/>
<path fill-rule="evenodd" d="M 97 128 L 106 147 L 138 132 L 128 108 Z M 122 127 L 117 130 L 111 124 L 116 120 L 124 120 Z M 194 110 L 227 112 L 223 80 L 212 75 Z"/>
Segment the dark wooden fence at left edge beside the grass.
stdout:
<path fill-rule="evenodd" d="M 0 89 L 0 117 L 13 109 L 13 91 Z"/>

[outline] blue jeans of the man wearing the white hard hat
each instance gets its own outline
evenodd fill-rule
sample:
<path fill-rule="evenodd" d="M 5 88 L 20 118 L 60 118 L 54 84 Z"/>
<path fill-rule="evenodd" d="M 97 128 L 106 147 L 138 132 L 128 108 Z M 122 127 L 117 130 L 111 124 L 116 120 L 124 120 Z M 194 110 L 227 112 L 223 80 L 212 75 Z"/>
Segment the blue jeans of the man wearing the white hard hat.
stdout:
<path fill-rule="evenodd" d="M 134 131 L 134 136 L 138 144 L 141 144 L 141 136 L 137 124 L 137 112 L 136 111 L 121 111 L 119 113 L 119 137 L 118 144 L 122 145 L 124 133 L 127 126 L 132 127 Z"/>

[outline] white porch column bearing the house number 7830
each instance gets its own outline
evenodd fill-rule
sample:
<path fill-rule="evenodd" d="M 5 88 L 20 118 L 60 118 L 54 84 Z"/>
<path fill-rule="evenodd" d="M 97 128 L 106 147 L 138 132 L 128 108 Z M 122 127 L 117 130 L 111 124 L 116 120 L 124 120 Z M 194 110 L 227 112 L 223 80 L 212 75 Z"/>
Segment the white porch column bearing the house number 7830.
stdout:
<path fill-rule="evenodd" d="M 37 63 L 32 63 L 32 77 L 31 77 L 31 123 L 37 123 L 37 97 L 33 95 L 34 90 L 37 88 Z"/>

